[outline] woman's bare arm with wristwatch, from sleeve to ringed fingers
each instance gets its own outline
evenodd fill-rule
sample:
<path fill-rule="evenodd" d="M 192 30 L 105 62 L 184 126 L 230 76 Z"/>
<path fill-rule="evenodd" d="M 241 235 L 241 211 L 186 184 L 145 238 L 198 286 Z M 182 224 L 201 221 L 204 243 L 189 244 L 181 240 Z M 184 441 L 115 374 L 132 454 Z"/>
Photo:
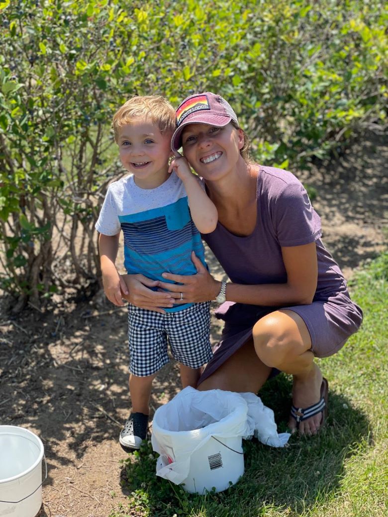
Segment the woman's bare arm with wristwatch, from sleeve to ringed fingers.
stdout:
<path fill-rule="evenodd" d="M 317 288 L 318 263 L 315 242 L 303 246 L 281 248 L 287 271 L 287 282 L 283 284 L 244 285 L 228 283 L 226 299 L 250 305 L 308 305 Z M 214 300 L 221 282 L 216 281 L 199 259 L 192 254 L 197 275 L 182 276 L 163 273 L 163 277 L 181 285 L 160 282 L 159 287 L 170 290 L 177 300 L 183 293 L 184 302 Z M 243 266 L 242 266 L 243 267 Z"/>

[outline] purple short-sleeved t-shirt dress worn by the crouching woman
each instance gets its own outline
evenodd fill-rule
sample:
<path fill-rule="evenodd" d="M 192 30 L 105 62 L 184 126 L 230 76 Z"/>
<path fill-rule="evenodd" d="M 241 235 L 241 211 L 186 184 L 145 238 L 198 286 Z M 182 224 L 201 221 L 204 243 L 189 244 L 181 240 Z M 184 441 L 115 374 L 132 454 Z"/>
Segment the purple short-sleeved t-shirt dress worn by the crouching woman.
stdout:
<path fill-rule="evenodd" d="M 287 282 L 281 247 L 315 241 L 317 290 L 310 305 L 264 307 L 223 303 L 215 313 L 225 321 L 221 341 L 200 383 L 251 338 L 253 325 L 270 312 L 288 309 L 299 314 L 310 333 L 311 351 L 317 357 L 337 352 L 362 322 L 362 311 L 351 301 L 339 266 L 322 244 L 320 217 L 299 179 L 281 169 L 259 169 L 255 230 L 247 237 L 238 237 L 218 223 L 214 232 L 202 237 L 232 282 L 253 285 Z"/>

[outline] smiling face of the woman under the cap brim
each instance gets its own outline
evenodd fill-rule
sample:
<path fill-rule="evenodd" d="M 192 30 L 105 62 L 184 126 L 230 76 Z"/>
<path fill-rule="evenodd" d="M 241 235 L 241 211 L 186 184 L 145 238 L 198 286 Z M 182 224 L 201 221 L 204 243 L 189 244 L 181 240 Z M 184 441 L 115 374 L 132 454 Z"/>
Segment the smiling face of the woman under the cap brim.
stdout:
<path fill-rule="evenodd" d="M 243 160 L 244 134 L 232 124 L 223 127 L 188 124 L 182 131 L 183 154 L 204 179 L 218 179 Z"/>

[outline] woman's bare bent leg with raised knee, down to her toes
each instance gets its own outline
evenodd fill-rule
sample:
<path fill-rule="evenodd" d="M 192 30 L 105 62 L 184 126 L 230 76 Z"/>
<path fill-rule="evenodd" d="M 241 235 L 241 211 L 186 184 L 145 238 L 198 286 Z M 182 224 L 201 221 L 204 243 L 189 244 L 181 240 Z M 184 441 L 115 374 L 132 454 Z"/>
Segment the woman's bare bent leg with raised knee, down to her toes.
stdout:
<path fill-rule="evenodd" d="M 314 363 L 310 334 L 299 314 L 282 309 L 262 317 L 253 327 L 253 342 L 264 364 L 293 375 L 294 406 L 306 408 L 319 401 L 322 373 Z M 299 432 L 315 434 L 321 420 L 320 413 L 300 422 Z M 296 430 L 293 418 L 289 427 Z"/>

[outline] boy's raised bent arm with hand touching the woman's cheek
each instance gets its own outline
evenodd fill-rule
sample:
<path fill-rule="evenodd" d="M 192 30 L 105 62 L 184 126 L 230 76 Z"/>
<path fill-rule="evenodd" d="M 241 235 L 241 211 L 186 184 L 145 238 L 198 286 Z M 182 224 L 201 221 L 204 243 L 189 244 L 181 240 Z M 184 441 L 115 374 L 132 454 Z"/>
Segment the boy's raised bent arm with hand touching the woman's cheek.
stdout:
<path fill-rule="evenodd" d="M 189 200 L 190 212 L 194 224 L 201 233 L 211 233 L 216 229 L 218 212 L 214 203 L 207 196 L 199 184 L 198 179 L 190 171 L 186 158 L 174 158 L 169 167 L 169 172 L 181 178 Z"/>

